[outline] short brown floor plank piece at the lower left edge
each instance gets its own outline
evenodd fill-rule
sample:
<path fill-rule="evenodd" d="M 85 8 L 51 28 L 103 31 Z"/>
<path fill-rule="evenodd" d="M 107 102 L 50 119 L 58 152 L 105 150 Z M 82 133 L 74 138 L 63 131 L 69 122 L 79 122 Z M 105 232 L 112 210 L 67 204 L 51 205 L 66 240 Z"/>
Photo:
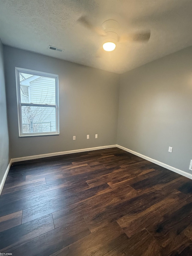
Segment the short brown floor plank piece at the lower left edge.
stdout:
<path fill-rule="evenodd" d="M 0 217 L 0 232 L 21 224 L 22 211 Z"/>

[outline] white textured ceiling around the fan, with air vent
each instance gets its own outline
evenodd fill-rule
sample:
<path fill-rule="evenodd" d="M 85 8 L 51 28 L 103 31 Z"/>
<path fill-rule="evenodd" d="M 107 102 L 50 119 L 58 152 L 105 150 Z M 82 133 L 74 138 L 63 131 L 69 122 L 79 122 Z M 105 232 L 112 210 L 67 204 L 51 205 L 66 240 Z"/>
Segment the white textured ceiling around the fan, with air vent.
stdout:
<path fill-rule="evenodd" d="M 0 0 L 0 10 L 3 44 L 116 73 L 192 45 L 192 0 Z M 104 52 L 103 38 L 77 22 L 82 15 L 97 27 L 117 20 L 119 35 L 150 29 L 151 38 Z"/>

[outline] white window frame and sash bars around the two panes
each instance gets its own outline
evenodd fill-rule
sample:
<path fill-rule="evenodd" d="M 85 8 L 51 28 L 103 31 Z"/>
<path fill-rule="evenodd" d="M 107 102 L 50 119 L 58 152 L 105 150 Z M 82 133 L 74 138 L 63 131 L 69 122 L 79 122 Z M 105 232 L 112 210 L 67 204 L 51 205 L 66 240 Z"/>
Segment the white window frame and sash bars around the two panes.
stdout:
<path fill-rule="evenodd" d="M 33 104 L 33 103 L 21 103 L 20 94 L 20 78 L 19 73 L 26 73 L 41 77 L 49 77 L 55 79 L 55 105 L 54 104 Z M 19 124 L 19 137 L 33 137 L 33 136 L 47 136 L 47 135 L 58 135 L 59 134 L 59 80 L 58 75 L 45 73 L 41 71 L 34 71 L 25 68 L 15 68 L 16 74 L 16 92 L 17 92 L 17 112 L 18 112 L 18 124 Z M 33 132 L 33 133 L 23 133 L 22 132 L 22 106 L 33 106 L 33 107 L 55 107 L 55 125 L 56 131 L 50 132 Z"/>

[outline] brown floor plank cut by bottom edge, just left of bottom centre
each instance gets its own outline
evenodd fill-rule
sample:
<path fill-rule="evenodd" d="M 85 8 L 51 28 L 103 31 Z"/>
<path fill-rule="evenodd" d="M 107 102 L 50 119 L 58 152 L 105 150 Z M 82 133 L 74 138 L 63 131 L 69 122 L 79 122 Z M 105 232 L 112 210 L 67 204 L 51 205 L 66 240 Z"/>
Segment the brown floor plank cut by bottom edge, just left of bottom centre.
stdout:
<path fill-rule="evenodd" d="M 90 256 L 104 255 L 122 242 L 127 242 L 128 237 L 116 222 L 109 226 L 85 236 L 84 238 L 70 244 L 69 246 L 52 254 L 65 256 Z"/>

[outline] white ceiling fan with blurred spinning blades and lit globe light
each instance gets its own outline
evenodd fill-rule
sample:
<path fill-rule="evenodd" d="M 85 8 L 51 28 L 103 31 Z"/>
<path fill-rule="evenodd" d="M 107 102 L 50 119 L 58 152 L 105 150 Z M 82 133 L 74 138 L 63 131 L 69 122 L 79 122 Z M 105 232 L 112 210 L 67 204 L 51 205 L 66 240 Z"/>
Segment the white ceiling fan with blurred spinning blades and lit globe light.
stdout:
<path fill-rule="evenodd" d="M 93 26 L 86 16 L 80 17 L 77 22 L 104 38 L 103 49 L 105 51 L 113 51 L 119 41 L 148 42 L 151 36 L 150 30 L 119 36 L 119 23 L 116 20 L 106 20 L 101 28 Z"/>

